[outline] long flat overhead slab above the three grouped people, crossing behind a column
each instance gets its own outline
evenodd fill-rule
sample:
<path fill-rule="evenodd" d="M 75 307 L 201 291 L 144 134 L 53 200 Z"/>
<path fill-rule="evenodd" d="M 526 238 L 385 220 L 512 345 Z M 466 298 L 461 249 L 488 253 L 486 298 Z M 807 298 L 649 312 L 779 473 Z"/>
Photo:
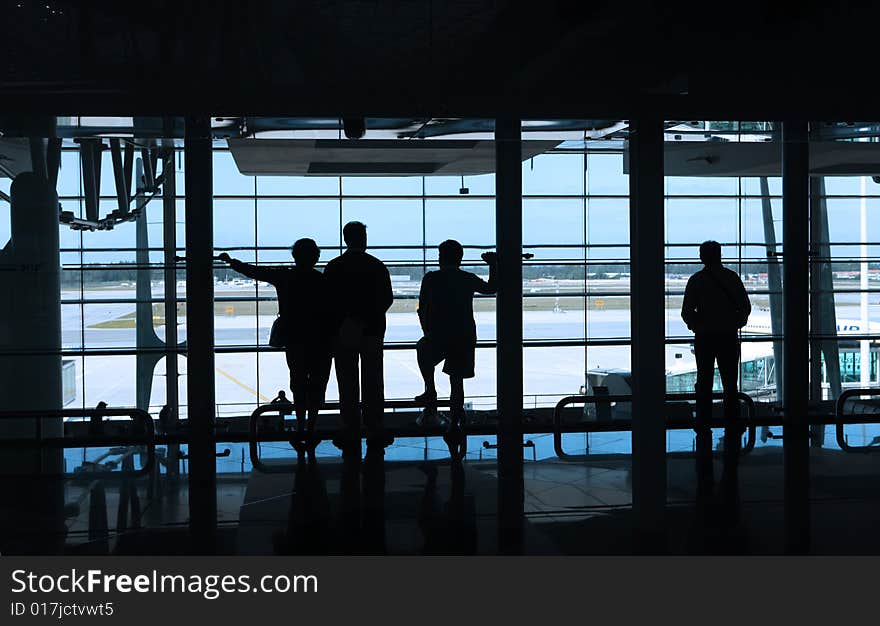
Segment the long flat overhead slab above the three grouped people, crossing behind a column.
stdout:
<path fill-rule="evenodd" d="M 249 176 L 473 176 L 495 171 L 495 142 L 443 139 L 228 139 Z M 559 141 L 523 141 L 525 161 Z"/>

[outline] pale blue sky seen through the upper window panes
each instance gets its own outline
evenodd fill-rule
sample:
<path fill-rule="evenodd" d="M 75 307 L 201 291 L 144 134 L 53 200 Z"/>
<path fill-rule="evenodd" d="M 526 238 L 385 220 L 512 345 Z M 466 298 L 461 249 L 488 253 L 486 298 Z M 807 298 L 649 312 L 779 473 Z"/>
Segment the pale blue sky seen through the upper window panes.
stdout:
<path fill-rule="evenodd" d="M 495 202 L 486 197 L 494 194 L 494 175 L 468 176 L 465 185 L 470 189 L 467 196 L 459 195 L 461 178 L 398 177 L 358 178 L 344 177 L 251 177 L 241 175 L 225 151 L 215 151 L 214 193 L 218 196 L 260 197 L 218 198 L 215 200 L 214 238 L 218 248 L 257 246 L 289 246 L 303 236 L 314 238 L 327 250 L 323 258 L 329 259 L 339 245 L 340 210 L 344 222 L 357 219 L 368 226 L 370 243 L 379 246 L 419 245 L 424 236 L 430 247 L 446 238 L 459 239 L 465 245 L 491 246 L 495 237 Z M 585 240 L 591 244 L 620 244 L 629 240 L 627 176 L 622 173 L 622 156 L 617 153 L 591 153 L 586 161 L 580 154 L 548 154 L 523 163 L 523 242 L 529 244 L 574 244 Z M 182 166 L 182 160 L 180 162 Z M 178 171 L 178 192 L 182 194 L 185 172 Z M 66 210 L 79 212 L 76 199 L 64 198 L 79 194 L 78 156 L 65 152 L 59 177 L 58 191 Z M 421 199 L 427 196 L 444 198 Z M 0 189 L 8 192 L 9 180 L 0 179 Z M 340 207 L 339 193 L 344 196 Z M 586 202 L 581 196 L 585 189 L 590 196 Z M 102 194 L 112 194 L 113 176 L 109 154 L 105 155 L 101 181 Z M 858 195 L 860 180 L 857 177 L 826 178 L 829 195 Z M 781 192 L 778 178 L 770 180 L 770 192 Z M 717 195 L 713 198 L 674 197 L 667 200 L 666 241 L 668 243 L 699 243 L 704 239 L 760 244 L 763 242 L 763 221 L 759 198 L 745 198 L 739 211 L 737 193 L 757 195 L 760 193 L 756 178 L 684 178 L 667 177 L 666 193 L 670 196 Z M 880 185 L 868 182 L 868 194 L 880 193 Z M 279 195 L 310 196 L 302 198 L 278 198 Z M 370 196 L 415 196 L 384 197 Z M 273 198 L 273 196 L 276 196 Z M 345 196 L 366 196 L 348 198 Z M 481 197 L 482 196 L 482 197 Z M 530 197 L 551 196 L 551 197 Z M 603 197 L 592 197 L 603 196 Z M 183 220 L 183 201 L 178 202 L 178 222 Z M 255 206 L 256 205 L 256 206 Z M 774 218 L 777 220 L 777 240 L 781 242 L 781 199 L 772 200 Z M 0 241 L 9 237 L 8 205 L 0 205 Z M 828 200 L 832 241 L 856 242 L 859 239 L 858 198 L 831 198 Z M 880 198 L 869 198 L 868 240 L 880 242 Z M 115 200 L 102 202 L 102 212 L 116 208 Z M 256 219 L 255 219 L 256 209 Z M 424 224 L 422 212 L 424 211 Z M 154 202 L 148 210 L 151 245 L 161 242 L 161 203 Z M 135 225 L 122 224 L 110 232 L 78 233 L 61 228 L 62 247 L 84 248 L 133 247 Z M 182 224 L 178 224 L 179 242 L 184 241 Z M 734 250 L 727 250 L 730 256 Z M 855 256 L 857 246 L 836 246 L 835 255 Z M 381 253 L 387 259 L 420 258 L 417 251 L 387 251 Z M 581 258 L 577 250 L 553 249 L 542 251 L 545 257 Z M 692 247 L 676 249 L 670 256 L 695 256 Z M 763 255 L 756 246 L 745 253 Z M 872 246 L 869 254 L 880 255 L 880 247 Z M 593 249 L 591 258 L 626 256 L 625 248 Z M 154 262 L 158 262 L 158 255 Z M 242 258 L 253 254 L 241 253 Z M 469 252 L 473 259 L 478 252 Z M 286 261 L 286 253 L 262 252 L 261 261 Z M 90 253 L 86 262 L 132 261 L 133 253 Z M 65 255 L 64 263 L 78 262 L 75 255 Z"/>

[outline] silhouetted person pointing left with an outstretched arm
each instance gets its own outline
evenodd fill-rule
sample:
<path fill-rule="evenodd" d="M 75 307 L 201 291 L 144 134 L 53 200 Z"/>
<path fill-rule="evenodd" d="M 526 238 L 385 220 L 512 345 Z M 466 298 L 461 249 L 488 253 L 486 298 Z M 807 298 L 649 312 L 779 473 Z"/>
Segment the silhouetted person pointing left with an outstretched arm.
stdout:
<path fill-rule="evenodd" d="M 299 239 L 290 250 L 295 267 L 258 267 L 220 255 L 235 271 L 265 281 L 278 293 L 278 314 L 284 329 L 290 391 L 300 425 L 307 423 L 309 447 L 330 379 L 329 295 L 326 279 L 315 269 L 321 250 L 312 239 Z"/>

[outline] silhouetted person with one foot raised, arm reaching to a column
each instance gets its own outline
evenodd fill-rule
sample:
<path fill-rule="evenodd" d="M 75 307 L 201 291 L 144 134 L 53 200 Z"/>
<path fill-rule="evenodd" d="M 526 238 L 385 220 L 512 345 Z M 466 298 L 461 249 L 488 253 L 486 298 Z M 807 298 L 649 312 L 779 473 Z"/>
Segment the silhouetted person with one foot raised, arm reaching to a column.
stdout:
<path fill-rule="evenodd" d="M 416 400 L 429 405 L 437 401 L 434 367 L 444 361 L 443 372 L 449 375 L 450 429 L 461 426 L 464 417 L 464 379 L 474 377 L 477 349 L 477 325 L 474 322 L 474 294 L 497 291 L 497 256 L 483 253 L 489 265 L 489 280 L 461 269 L 464 249 L 454 239 L 439 248 L 440 269 L 428 272 L 419 291 L 419 322 L 424 337 L 416 344 L 419 370 L 425 391 Z"/>

